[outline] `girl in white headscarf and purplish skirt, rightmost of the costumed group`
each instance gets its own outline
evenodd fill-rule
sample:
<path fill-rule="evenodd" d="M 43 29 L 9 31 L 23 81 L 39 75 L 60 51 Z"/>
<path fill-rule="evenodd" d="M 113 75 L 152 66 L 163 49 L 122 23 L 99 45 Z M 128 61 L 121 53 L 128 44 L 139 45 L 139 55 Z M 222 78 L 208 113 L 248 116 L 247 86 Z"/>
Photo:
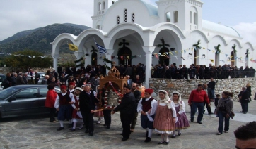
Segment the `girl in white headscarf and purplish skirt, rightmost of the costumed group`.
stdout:
<path fill-rule="evenodd" d="M 181 95 L 179 92 L 174 91 L 173 95 L 170 98 L 173 103 L 175 104 L 175 110 L 177 115 L 177 121 L 175 123 L 175 130 L 178 130 L 178 135 L 181 135 L 181 129 L 185 129 L 190 127 L 190 124 L 187 120 L 187 115 L 185 113 L 185 103 L 181 101 Z M 173 131 L 172 138 L 175 138 L 176 134 L 175 131 Z"/>

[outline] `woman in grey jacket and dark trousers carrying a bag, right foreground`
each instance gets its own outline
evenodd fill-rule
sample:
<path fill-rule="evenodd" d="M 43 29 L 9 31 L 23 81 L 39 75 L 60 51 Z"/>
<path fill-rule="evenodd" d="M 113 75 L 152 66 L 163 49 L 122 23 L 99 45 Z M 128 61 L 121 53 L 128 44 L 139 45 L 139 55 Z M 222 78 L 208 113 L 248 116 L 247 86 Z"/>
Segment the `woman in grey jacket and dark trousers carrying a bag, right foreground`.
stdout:
<path fill-rule="evenodd" d="M 231 112 L 233 110 L 233 101 L 231 100 L 233 93 L 228 91 L 223 91 L 222 98 L 219 99 L 219 103 L 215 110 L 215 114 L 219 117 L 219 127 L 217 135 L 221 135 L 223 132 L 223 122 L 225 119 L 224 132 L 228 133 L 229 129 L 229 119 L 231 118 Z"/>

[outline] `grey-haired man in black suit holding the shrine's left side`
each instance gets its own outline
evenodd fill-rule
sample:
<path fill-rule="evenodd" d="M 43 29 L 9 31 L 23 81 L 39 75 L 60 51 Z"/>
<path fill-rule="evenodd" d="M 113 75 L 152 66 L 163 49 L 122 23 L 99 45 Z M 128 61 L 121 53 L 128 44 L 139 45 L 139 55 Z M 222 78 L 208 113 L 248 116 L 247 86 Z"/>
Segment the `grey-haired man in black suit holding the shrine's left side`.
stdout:
<path fill-rule="evenodd" d="M 98 103 L 98 100 L 95 98 L 93 90 L 91 90 L 91 85 L 86 84 L 84 86 L 84 91 L 80 93 L 79 105 L 83 117 L 83 122 L 86 125 L 85 133 L 89 133 L 90 136 L 93 136 L 94 131 L 93 115 L 95 110 L 95 103 Z"/>

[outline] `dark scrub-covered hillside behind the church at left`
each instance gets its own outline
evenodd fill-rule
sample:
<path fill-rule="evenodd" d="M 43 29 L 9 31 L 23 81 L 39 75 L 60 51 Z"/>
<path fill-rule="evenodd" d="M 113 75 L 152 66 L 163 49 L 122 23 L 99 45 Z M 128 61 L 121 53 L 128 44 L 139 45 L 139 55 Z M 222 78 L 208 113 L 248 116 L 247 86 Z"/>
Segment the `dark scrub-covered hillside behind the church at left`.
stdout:
<path fill-rule="evenodd" d="M 42 53 L 52 53 L 52 44 L 50 42 L 62 33 L 70 33 L 78 35 L 83 30 L 89 27 L 83 25 L 66 24 L 53 24 L 46 27 L 40 27 L 34 30 L 18 32 L 0 42 L 0 52 L 13 53 L 15 51 L 22 51 L 25 48 Z M 1 44 L 2 43 L 2 44 Z M 63 46 L 62 52 L 70 52 L 67 46 Z"/>

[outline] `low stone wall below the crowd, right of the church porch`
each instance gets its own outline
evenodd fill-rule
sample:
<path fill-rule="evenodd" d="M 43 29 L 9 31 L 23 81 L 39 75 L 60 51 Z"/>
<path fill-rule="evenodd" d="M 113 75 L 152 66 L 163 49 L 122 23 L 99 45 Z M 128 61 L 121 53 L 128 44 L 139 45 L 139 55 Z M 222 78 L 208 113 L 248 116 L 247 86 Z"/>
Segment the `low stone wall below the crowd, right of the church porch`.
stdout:
<path fill-rule="evenodd" d="M 210 79 L 149 79 L 149 87 L 152 88 L 156 93 L 158 90 L 163 89 L 172 93 L 173 91 L 178 91 L 182 95 L 182 98 L 188 98 L 193 89 L 197 89 L 199 83 L 206 83 Z M 255 78 L 239 78 L 239 79 L 215 79 L 215 95 L 216 93 L 221 94 L 223 91 L 231 91 L 232 93 L 240 92 L 242 86 L 245 86 L 250 82 L 252 86 L 252 96 L 255 95 Z M 235 93 L 235 95 L 238 93 Z"/>

